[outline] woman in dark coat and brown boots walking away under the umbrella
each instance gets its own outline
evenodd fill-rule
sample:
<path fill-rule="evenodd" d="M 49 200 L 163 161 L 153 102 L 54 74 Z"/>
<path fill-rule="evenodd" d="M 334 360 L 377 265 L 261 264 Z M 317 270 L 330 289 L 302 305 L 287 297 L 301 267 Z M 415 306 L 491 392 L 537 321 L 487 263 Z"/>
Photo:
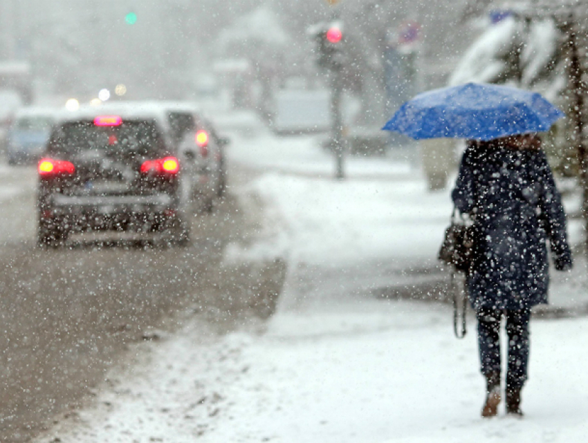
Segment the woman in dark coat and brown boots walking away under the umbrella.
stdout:
<path fill-rule="evenodd" d="M 457 209 L 475 220 L 468 290 L 486 377 L 483 417 L 497 415 L 501 401 L 503 316 L 508 334 L 506 412 L 522 416 L 531 308 L 547 303 L 547 241 L 557 270 L 572 265 L 564 209 L 540 144 L 536 135 L 470 142 L 452 194 Z"/>

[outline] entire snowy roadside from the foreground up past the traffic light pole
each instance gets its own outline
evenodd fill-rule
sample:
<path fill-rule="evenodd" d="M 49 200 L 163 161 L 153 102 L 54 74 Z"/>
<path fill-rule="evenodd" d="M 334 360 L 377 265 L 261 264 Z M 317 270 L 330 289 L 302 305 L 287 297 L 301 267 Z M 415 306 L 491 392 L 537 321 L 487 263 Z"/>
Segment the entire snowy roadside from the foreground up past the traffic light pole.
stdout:
<path fill-rule="evenodd" d="M 447 306 L 373 295 L 427 278 L 407 268 L 433 270 L 447 191 L 428 194 L 418 171 L 385 158 L 349 160 L 349 178 L 332 180 L 313 137 L 236 135 L 230 158 L 259 172 L 237 191 L 245 203 L 261 196 L 268 217 L 259 242 L 227 259 L 288 259 L 266 330 L 202 343 L 188 325 L 138 346 L 134 373 L 112 375 L 120 381 L 94 406 L 38 442 L 583 440 L 588 319 L 533 321 L 526 417 L 481 420 L 472 319 L 457 341 Z"/>

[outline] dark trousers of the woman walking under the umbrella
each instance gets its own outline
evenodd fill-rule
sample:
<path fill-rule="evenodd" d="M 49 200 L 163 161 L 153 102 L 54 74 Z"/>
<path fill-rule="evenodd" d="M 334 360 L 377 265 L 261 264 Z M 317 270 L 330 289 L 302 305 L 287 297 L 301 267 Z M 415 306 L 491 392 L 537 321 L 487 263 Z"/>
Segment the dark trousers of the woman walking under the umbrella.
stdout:
<path fill-rule="evenodd" d="M 527 379 L 529 364 L 529 321 L 531 310 L 493 310 L 482 308 L 477 312 L 478 341 L 481 372 L 499 375 L 500 370 L 500 319 L 506 317 L 508 335 L 507 388 L 522 388 Z"/>

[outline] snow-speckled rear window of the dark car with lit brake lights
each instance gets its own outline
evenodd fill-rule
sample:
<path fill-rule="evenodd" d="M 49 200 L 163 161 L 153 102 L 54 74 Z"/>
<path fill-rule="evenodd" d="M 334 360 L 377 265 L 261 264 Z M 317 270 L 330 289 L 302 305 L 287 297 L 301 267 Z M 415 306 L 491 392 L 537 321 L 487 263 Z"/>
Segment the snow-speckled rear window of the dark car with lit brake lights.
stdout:
<path fill-rule="evenodd" d="M 105 152 L 158 155 L 165 153 L 165 142 L 154 122 L 122 122 L 119 126 L 96 126 L 93 122 L 71 122 L 59 126 L 51 135 L 50 152 Z"/>

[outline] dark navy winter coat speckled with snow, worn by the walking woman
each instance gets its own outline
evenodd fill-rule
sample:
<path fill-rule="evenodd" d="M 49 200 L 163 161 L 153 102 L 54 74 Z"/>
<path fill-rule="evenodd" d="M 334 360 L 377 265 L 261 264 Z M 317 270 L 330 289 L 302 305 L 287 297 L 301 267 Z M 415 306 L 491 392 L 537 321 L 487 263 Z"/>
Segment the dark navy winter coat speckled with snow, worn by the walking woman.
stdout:
<path fill-rule="evenodd" d="M 571 268 L 571 252 L 545 154 L 498 142 L 472 144 L 463 154 L 452 198 L 461 213 L 475 214 L 468 276 L 472 307 L 519 310 L 547 303 L 546 242 L 558 270 Z"/>

